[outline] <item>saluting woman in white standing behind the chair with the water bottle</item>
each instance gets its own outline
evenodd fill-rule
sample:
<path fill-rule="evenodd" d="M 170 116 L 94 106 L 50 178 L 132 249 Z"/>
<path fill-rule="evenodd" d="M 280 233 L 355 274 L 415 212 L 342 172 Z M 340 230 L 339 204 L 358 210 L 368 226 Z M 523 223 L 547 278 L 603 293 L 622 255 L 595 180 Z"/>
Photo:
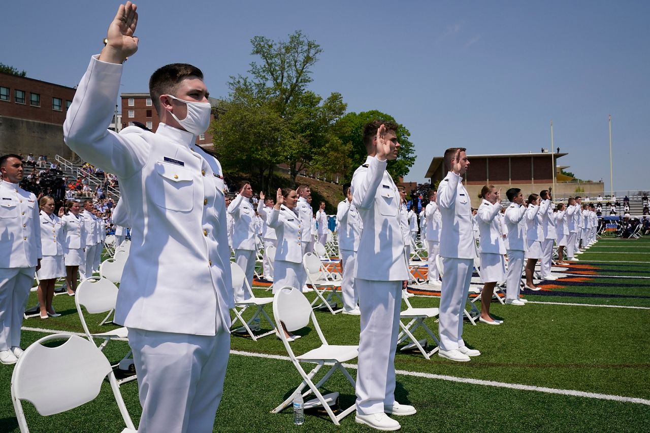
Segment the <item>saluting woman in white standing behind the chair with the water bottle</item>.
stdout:
<path fill-rule="evenodd" d="M 300 275 L 302 273 L 302 248 L 300 235 L 302 230 L 311 230 L 311 227 L 300 227 L 300 219 L 293 212 L 298 201 L 296 190 L 278 188 L 276 204 L 268 213 L 268 227 L 276 230 L 278 249 L 276 260 L 273 262 L 273 293 L 285 286 L 302 291 Z M 289 341 L 300 336 L 289 334 L 285 330 Z"/>

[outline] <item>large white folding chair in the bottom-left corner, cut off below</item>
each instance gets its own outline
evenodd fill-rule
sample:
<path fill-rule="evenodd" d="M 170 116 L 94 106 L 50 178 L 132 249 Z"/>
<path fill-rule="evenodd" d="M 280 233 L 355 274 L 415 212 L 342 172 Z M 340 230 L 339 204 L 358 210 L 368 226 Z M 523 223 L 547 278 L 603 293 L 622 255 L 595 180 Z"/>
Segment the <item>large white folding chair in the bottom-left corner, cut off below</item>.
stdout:
<path fill-rule="evenodd" d="M 43 345 L 62 339 L 67 341 L 57 347 Z M 107 376 L 126 425 L 122 433 L 136 432 L 110 363 L 94 344 L 70 334 L 53 334 L 36 341 L 18 359 L 11 377 L 11 398 L 20 431 L 29 433 L 21 400 L 31 402 L 42 416 L 60 414 L 94 400 Z"/>

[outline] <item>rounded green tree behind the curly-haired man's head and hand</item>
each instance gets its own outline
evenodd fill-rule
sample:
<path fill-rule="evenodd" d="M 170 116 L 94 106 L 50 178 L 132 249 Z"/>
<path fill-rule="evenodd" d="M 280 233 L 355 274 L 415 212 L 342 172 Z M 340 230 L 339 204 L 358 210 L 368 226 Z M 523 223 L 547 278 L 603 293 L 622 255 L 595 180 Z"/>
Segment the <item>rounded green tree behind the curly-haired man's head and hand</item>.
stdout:
<path fill-rule="evenodd" d="M 395 118 L 389 114 L 378 110 L 370 110 L 361 113 L 348 113 L 336 125 L 342 146 L 348 149 L 349 158 L 342 164 L 343 170 L 341 171 L 348 180 L 352 179 L 354 171 L 359 165 L 363 164 L 368 155 L 362 142 L 363 127 L 375 119 L 395 121 Z M 397 159 L 389 161 L 387 166 L 388 172 L 395 180 L 406 176 L 415 162 L 413 143 L 408 139 L 411 133 L 401 123 L 398 123 L 398 125 L 395 132 L 400 143 L 400 151 Z"/>

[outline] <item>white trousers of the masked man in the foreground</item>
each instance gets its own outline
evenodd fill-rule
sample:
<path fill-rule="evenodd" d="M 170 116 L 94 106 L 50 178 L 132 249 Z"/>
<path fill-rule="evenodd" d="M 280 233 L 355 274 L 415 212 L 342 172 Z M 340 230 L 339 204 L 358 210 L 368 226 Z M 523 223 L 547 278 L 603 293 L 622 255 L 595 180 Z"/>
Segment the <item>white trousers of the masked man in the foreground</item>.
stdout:
<path fill-rule="evenodd" d="M 129 328 L 142 416 L 138 432 L 212 432 L 224 393 L 230 334 Z"/>

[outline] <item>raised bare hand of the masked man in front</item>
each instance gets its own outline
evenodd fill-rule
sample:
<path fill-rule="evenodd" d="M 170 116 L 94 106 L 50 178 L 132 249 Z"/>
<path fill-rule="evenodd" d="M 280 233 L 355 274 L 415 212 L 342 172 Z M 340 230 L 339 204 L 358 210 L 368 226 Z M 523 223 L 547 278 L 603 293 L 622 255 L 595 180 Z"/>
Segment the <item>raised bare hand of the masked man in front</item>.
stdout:
<path fill-rule="evenodd" d="M 132 56 L 138 51 L 138 38 L 133 36 L 135 27 L 138 24 L 138 13 L 130 1 L 126 5 L 120 5 L 118 12 L 109 25 L 107 33 L 108 42 L 101 54 L 99 60 L 109 63 L 123 63 L 127 57 Z"/>

